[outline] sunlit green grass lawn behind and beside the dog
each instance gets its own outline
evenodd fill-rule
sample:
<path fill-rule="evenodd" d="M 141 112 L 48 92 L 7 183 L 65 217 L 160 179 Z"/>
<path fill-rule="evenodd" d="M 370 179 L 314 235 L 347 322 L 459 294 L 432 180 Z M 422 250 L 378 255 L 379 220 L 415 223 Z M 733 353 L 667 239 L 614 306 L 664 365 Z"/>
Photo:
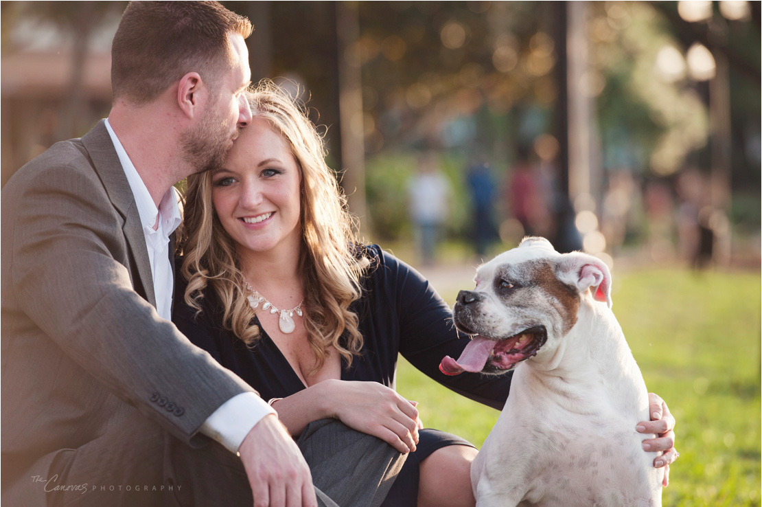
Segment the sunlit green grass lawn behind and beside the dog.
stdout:
<path fill-rule="evenodd" d="M 760 505 L 760 276 L 615 274 L 613 302 L 648 390 L 677 419 L 680 458 L 664 505 Z M 402 359 L 397 389 L 421 403 L 425 425 L 477 446 L 498 416 Z"/>

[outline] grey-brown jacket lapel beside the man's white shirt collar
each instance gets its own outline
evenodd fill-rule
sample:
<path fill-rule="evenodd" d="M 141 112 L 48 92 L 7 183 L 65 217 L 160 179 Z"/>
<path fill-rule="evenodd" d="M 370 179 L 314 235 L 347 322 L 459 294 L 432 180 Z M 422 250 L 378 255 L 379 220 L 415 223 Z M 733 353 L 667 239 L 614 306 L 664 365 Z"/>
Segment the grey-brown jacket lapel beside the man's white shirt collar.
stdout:
<path fill-rule="evenodd" d="M 99 121 L 93 130 L 82 137 L 82 144 L 85 145 L 85 149 L 92 159 L 95 172 L 98 172 L 101 181 L 103 181 L 111 203 L 124 217 L 122 230 L 133 255 L 135 271 L 137 271 L 134 273 L 133 270 L 130 270 L 133 285 L 135 285 L 136 290 L 138 285 L 142 286 L 145 291 L 142 296 L 155 307 L 156 297 L 151 274 L 151 261 L 146 247 L 146 236 L 143 234 L 133 191 L 124 175 L 117 150 L 114 149 L 114 143 L 111 142 L 104 120 Z"/>

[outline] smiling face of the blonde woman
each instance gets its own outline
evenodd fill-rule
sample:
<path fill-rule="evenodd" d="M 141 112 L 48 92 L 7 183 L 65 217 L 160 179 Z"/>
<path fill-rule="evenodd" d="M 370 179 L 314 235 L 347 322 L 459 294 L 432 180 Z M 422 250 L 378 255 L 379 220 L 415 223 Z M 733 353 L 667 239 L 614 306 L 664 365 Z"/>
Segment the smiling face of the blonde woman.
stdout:
<path fill-rule="evenodd" d="M 287 140 L 256 118 L 212 173 L 212 201 L 239 253 L 299 252 L 301 172 Z"/>

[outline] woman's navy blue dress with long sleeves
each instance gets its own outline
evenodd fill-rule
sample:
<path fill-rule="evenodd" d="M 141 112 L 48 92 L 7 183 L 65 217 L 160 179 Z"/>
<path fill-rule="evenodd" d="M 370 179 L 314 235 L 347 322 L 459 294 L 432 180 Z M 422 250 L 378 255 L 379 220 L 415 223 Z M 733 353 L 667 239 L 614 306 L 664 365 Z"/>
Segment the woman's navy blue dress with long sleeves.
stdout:
<path fill-rule="evenodd" d="M 511 374 L 482 377 L 475 374 L 448 376 L 439 371 L 444 356 L 458 358 L 468 343 L 452 323 L 452 313 L 433 287 L 415 269 L 378 245 L 358 247 L 371 265 L 363 277 L 363 295 L 351 305 L 359 317 L 363 335 L 360 357 L 351 367 L 342 362 L 341 380 L 366 380 L 394 387 L 397 357 L 402 354 L 428 377 L 479 403 L 502 409 L 508 396 Z M 178 266 L 181 265 L 178 262 Z M 246 346 L 222 325 L 223 310 L 213 290 L 203 297 L 202 312 L 184 303 L 187 282 L 177 278 L 172 320 L 195 345 L 208 351 L 224 367 L 258 390 L 264 400 L 290 396 L 306 389 L 304 383 L 272 339 L 261 329 L 253 346 Z M 470 445 L 462 438 L 437 430 L 420 432 L 412 453 L 384 505 L 415 505 L 418 496 L 418 463 L 439 448 Z"/>

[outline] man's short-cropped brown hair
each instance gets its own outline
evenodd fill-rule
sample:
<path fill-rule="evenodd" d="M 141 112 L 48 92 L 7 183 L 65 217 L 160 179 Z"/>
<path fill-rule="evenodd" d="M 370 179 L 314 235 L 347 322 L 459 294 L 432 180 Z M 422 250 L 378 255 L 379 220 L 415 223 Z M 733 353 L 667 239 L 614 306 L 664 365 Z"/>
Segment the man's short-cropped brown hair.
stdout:
<path fill-rule="evenodd" d="M 188 72 L 215 86 L 232 67 L 228 34 L 251 23 L 219 2 L 130 2 L 111 46 L 114 101 L 146 104 Z"/>

